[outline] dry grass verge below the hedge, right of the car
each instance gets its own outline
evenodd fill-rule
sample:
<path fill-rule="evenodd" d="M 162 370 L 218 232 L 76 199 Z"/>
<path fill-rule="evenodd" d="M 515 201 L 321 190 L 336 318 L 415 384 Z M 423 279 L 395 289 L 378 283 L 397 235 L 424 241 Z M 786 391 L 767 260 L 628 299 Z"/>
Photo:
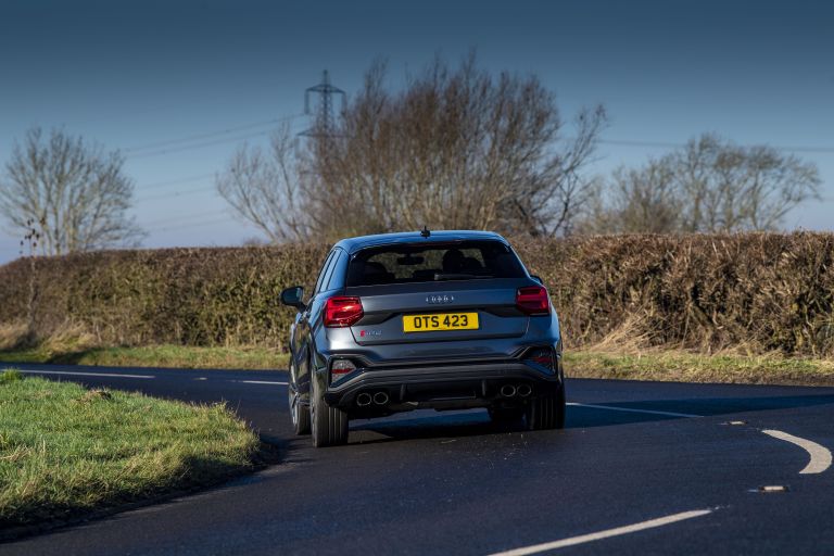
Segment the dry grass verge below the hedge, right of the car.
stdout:
<path fill-rule="evenodd" d="M 568 351 L 565 372 L 577 378 L 834 386 L 834 361 L 781 355 Z"/>

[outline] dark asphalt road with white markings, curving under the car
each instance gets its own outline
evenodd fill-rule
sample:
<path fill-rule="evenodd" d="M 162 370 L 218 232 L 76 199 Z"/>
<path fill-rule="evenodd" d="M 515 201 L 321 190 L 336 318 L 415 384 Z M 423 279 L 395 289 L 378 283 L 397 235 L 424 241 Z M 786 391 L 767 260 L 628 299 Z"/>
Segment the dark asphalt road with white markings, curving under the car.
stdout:
<path fill-rule="evenodd" d="M 569 380 L 563 431 L 415 412 L 353 421 L 350 445 L 316 450 L 290 432 L 285 372 L 21 368 L 225 400 L 281 462 L 3 556 L 834 554 L 834 389 Z"/>

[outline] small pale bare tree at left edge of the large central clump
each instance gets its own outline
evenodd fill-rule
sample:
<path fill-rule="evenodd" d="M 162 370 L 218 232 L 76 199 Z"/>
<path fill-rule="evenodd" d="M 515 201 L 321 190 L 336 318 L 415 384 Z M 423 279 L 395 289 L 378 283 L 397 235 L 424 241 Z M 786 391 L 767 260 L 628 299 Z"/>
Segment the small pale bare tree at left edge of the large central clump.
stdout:
<path fill-rule="evenodd" d="M 241 147 L 217 177 L 217 192 L 270 241 L 305 239 L 304 172 L 300 147 L 285 125 L 273 135 L 268 151 Z"/>

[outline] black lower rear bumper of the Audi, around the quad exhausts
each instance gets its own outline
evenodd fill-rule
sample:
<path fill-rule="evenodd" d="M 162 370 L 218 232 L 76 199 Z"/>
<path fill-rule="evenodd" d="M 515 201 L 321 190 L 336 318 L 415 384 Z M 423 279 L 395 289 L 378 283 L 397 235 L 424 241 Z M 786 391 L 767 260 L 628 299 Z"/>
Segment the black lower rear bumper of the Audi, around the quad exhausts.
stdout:
<path fill-rule="evenodd" d="M 515 388 L 526 384 L 529 387 L 529 393 L 525 396 L 506 396 L 501 392 L 505 384 Z M 557 391 L 561 384 L 560 365 L 556 372 L 552 372 L 519 359 L 454 365 L 384 366 L 357 369 L 331 384 L 325 392 L 325 401 L 331 407 L 353 414 L 395 413 L 419 407 L 490 407 L 525 402 L 527 399 Z M 384 392 L 388 403 L 383 407 L 361 407 L 356 397 L 364 392 L 371 395 Z"/>

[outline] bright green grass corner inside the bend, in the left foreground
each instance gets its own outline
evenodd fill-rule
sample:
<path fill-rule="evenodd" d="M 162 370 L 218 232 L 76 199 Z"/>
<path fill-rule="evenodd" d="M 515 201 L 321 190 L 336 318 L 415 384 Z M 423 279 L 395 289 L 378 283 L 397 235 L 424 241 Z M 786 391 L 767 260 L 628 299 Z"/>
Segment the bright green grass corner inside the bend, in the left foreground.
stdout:
<path fill-rule="evenodd" d="M 223 405 L 0 375 L 0 529 L 42 525 L 251 469 L 258 438 Z"/>

